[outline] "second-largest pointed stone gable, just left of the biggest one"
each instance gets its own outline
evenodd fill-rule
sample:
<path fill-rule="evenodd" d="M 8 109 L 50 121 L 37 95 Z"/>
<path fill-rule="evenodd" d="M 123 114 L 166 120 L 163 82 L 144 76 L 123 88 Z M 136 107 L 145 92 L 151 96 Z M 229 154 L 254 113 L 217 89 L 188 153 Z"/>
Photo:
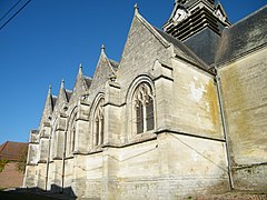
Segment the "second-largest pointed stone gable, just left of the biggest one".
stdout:
<path fill-rule="evenodd" d="M 90 91 L 101 89 L 105 86 L 110 76 L 115 74 L 118 68 L 118 63 L 108 59 L 102 47 L 98 64 L 91 81 Z"/>

